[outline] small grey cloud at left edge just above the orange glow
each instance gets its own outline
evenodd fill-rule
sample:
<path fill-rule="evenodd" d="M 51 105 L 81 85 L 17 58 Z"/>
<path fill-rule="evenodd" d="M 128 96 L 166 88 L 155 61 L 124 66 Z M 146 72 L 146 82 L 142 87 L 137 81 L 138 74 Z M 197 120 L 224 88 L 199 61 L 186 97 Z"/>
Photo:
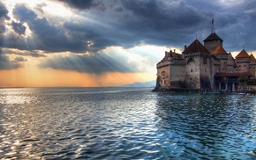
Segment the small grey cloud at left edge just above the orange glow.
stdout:
<path fill-rule="evenodd" d="M 19 69 L 21 65 L 17 61 L 11 61 L 8 56 L 0 54 L 0 70 Z"/>

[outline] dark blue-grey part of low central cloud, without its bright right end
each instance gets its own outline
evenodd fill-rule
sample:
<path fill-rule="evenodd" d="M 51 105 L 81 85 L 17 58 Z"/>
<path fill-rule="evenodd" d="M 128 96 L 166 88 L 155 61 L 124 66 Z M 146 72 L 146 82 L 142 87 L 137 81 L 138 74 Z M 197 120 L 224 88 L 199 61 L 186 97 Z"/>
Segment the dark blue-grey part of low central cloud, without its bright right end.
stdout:
<path fill-rule="evenodd" d="M 132 65 L 132 67 L 131 67 Z M 129 67 L 128 67 L 129 66 Z M 84 73 L 138 72 L 135 63 L 125 62 L 122 55 L 56 55 L 41 62 L 40 68 L 75 70 Z"/>

